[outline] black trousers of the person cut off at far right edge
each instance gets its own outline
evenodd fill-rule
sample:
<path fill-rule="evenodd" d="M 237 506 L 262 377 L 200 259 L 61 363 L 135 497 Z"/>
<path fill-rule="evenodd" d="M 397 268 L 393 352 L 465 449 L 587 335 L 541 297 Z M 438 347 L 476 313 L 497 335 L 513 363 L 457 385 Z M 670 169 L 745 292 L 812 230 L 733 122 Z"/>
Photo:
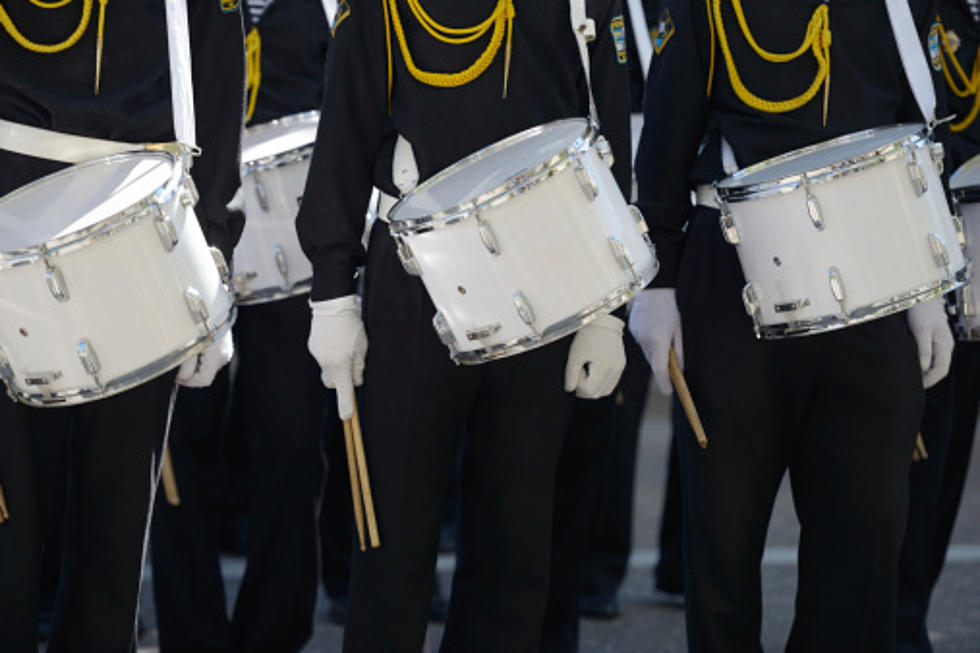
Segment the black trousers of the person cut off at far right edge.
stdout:
<path fill-rule="evenodd" d="M 897 651 L 930 653 L 926 616 L 956 521 L 980 402 L 980 343 L 958 342 L 950 375 L 926 393 L 928 458 L 909 474 L 908 528 L 899 561 Z"/>

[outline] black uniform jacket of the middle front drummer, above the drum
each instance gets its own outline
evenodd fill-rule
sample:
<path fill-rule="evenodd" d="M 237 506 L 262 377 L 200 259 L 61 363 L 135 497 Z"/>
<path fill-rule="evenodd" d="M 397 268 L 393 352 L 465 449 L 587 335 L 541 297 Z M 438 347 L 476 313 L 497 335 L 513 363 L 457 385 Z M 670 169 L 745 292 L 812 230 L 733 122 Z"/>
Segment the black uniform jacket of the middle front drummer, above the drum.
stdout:
<path fill-rule="evenodd" d="M 314 300 L 355 291 L 355 269 L 364 261 L 361 234 L 371 186 L 397 194 L 391 181 L 395 130 L 412 144 L 419 177 L 425 180 L 526 128 L 588 115 L 585 74 L 565 0 L 514 3 L 506 99 L 501 97 L 503 45 L 475 81 L 458 88 L 436 88 L 410 75 L 392 33 L 390 115 L 383 4 L 339 4 L 316 149 L 297 217 L 300 242 L 313 262 Z M 437 22 L 463 27 L 487 18 L 496 4 L 497 0 L 426 0 L 423 6 Z M 466 45 L 441 43 L 423 30 L 404 0 L 399 0 L 398 10 L 412 57 L 423 70 L 463 70 L 489 42 L 487 34 Z M 621 2 L 591 0 L 587 12 L 596 23 L 590 52 L 601 131 L 613 147 L 614 173 L 625 190 L 630 174 L 625 37 L 618 37 L 614 32 L 619 28 L 610 24 L 622 15 Z M 617 58 L 620 47 L 623 55 Z"/>

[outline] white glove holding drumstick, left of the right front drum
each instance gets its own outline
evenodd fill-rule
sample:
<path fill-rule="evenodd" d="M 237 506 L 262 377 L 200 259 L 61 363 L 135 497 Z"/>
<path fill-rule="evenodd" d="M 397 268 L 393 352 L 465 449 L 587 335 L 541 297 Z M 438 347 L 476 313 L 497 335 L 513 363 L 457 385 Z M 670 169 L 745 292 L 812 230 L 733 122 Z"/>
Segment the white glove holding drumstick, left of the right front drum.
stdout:
<path fill-rule="evenodd" d="M 681 313 L 677 310 L 673 288 L 651 288 L 641 291 L 630 310 L 630 332 L 653 369 L 653 378 L 662 394 L 670 396 L 668 360 L 673 346 L 677 363 L 684 369 L 684 340 L 681 338 Z"/>

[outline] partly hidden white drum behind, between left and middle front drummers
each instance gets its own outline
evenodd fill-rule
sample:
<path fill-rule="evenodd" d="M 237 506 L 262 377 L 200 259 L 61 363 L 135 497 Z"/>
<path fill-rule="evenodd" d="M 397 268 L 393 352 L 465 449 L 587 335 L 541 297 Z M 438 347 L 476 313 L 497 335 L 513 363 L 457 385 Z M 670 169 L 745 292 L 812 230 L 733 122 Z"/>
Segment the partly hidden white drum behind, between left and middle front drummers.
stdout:
<path fill-rule="evenodd" d="M 239 304 L 310 292 L 313 266 L 299 246 L 294 221 L 319 120 L 319 111 L 308 111 L 245 130 L 245 229 L 232 258 Z"/>

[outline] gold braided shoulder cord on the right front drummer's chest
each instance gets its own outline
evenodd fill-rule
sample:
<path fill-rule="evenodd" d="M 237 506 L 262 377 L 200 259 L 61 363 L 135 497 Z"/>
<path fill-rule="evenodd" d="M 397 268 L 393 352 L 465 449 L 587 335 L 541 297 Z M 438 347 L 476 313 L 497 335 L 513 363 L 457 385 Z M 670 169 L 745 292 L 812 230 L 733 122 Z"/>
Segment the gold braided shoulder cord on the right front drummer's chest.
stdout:
<path fill-rule="evenodd" d="M 752 33 L 749 31 L 748 23 L 745 20 L 745 14 L 742 11 L 742 3 L 740 0 L 731 1 L 732 9 L 735 11 L 735 17 L 738 19 L 739 27 L 742 30 L 742 35 L 745 37 L 745 40 L 757 55 L 759 55 L 765 61 L 769 61 L 771 63 L 786 63 L 801 57 L 807 50 L 809 50 L 813 53 L 813 58 L 817 60 L 817 74 L 814 76 L 813 82 L 811 82 L 809 88 L 807 88 L 801 95 L 788 100 L 766 100 L 753 94 L 742 82 L 742 79 L 738 74 L 738 69 L 735 66 L 735 60 L 732 57 L 731 48 L 728 45 L 728 36 L 725 33 L 725 23 L 722 19 L 721 0 L 706 0 L 706 2 L 711 3 L 708 16 L 708 26 L 709 37 L 711 39 L 712 70 L 709 71 L 708 74 L 708 94 L 711 94 L 711 83 L 714 74 L 715 35 L 717 34 L 718 44 L 721 46 L 721 53 L 725 59 L 725 68 L 728 71 L 728 77 L 732 82 L 732 88 L 735 90 L 735 94 L 742 102 L 753 109 L 757 109 L 765 113 L 786 113 L 788 111 L 799 109 L 807 104 L 814 98 L 814 96 L 816 96 L 816 94 L 820 91 L 821 85 L 823 85 L 823 123 L 826 125 L 827 107 L 830 98 L 831 43 L 830 10 L 827 4 L 821 4 L 813 12 L 813 15 L 810 17 L 810 22 L 807 25 L 806 36 L 803 39 L 803 43 L 800 44 L 800 47 L 794 52 L 779 53 L 769 52 L 768 50 L 764 50 L 761 46 L 759 46 L 756 40 L 752 37 Z"/>

